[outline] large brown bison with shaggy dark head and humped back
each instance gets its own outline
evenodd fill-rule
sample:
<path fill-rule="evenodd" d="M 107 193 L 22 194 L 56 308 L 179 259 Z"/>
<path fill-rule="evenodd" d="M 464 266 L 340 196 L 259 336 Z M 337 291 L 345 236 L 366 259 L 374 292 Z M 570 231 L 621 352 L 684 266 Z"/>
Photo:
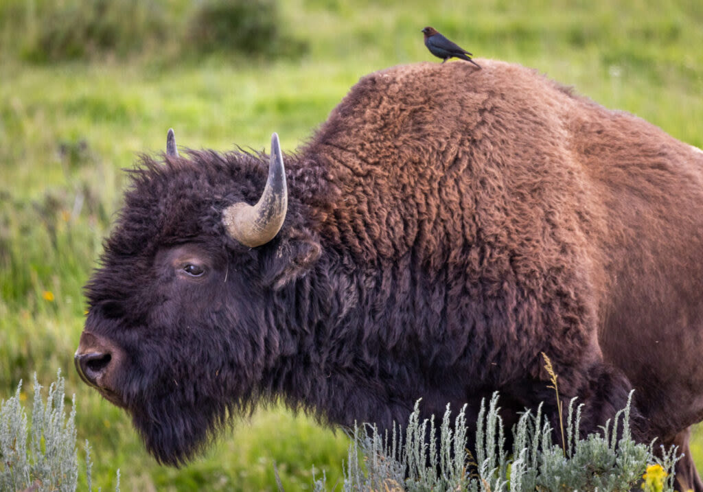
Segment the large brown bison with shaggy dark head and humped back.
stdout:
<path fill-rule="evenodd" d="M 380 428 L 500 391 L 676 444 L 703 491 L 703 153 L 534 70 L 363 77 L 283 155 L 143 157 L 86 285 L 83 380 L 180 465 L 262 401 Z M 284 170 L 285 162 L 285 170 Z M 263 192 L 262 192 L 263 190 Z M 511 417 L 512 416 L 512 417 Z"/>

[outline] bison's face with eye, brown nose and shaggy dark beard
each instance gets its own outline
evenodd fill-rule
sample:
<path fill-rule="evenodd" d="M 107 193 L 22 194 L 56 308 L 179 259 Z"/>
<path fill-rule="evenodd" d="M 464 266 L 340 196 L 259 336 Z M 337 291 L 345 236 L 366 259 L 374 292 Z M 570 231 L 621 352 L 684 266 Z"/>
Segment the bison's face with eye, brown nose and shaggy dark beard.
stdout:
<path fill-rule="evenodd" d="M 228 265 L 191 242 L 158 250 L 148 275 L 109 262 L 89 285 L 78 373 L 131 413 L 161 462 L 198 451 L 264 369 L 263 323 Z"/>

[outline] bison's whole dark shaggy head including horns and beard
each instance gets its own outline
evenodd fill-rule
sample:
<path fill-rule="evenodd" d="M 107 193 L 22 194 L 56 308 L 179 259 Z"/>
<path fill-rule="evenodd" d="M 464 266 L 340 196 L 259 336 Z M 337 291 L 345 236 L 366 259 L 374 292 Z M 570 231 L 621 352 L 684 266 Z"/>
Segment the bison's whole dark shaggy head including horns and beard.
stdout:
<path fill-rule="evenodd" d="M 279 234 L 288 193 L 276 134 L 268 179 L 265 165 L 243 152 L 179 157 L 169 131 L 165 162 L 144 157 L 131 171 L 86 285 L 78 373 L 131 413 L 160 462 L 185 462 L 228 415 L 265 397 L 257 383 L 295 346 L 269 332 L 281 321 L 265 306 L 281 272 L 291 276 L 293 247 Z"/>

